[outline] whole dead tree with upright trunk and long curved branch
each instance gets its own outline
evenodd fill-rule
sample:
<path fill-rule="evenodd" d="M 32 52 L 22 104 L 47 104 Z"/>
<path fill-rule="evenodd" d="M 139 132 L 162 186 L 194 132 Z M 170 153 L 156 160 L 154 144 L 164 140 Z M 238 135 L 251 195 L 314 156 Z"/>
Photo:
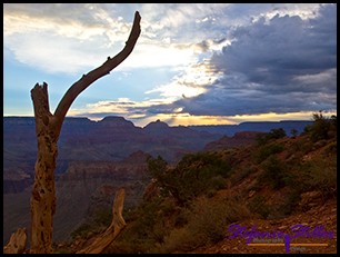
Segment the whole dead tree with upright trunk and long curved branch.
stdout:
<path fill-rule="evenodd" d="M 31 90 L 36 117 L 38 157 L 31 196 L 31 249 L 32 254 L 52 253 L 53 215 L 56 212 L 54 169 L 58 138 L 64 117 L 74 99 L 99 78 L 109 75 L 133 50 L 140 34 L 140 14 L 134 13 L 132 29 L 124 48 L 97 69 L 83 75 L 60 100 L 54 113 L 50 112 L 48 85 L 36 85 Z"/>

